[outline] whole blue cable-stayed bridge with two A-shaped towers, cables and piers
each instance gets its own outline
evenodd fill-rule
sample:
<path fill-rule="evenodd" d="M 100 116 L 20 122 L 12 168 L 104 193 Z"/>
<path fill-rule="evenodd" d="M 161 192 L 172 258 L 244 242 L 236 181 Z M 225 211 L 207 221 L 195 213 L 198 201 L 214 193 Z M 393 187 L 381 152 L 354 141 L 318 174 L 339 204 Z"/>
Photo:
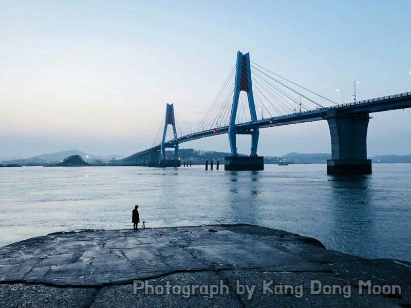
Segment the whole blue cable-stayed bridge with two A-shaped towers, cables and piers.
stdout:
<path fill-rule="evenodd" d="M 342 93 L 343 94 L 343 93 Z M 215 100 L 196 127 L 184 122 L 167 104 L 165 117 L 152 146 L 122 159 L 126 165 L 179 165 L 180 143 L 227 133 L 231 157 L 226 157 L 229 170 L 259 170 L 263 157 L 257 156 L 259 129 L 280 125 L 327 120 L 331 134 L 329 174 L 370 174 L 367 159 L 369 113 L 411 107 L 411 92 L 386 97 L 338 104 L 304 86 L 298 85 L 258 64 L 249 53 L 237 53 L 237 62 Z M 172 130 L 168 126 L 172 126 Z M 161 130 L 162 128 L 162 130 Z M 237 134 L 251 135 L 249 157 L 239 157 Z M 161 138 L 160 138 L 161 137 Z M 165 156 L 174 148 L 174 158 Z"/>

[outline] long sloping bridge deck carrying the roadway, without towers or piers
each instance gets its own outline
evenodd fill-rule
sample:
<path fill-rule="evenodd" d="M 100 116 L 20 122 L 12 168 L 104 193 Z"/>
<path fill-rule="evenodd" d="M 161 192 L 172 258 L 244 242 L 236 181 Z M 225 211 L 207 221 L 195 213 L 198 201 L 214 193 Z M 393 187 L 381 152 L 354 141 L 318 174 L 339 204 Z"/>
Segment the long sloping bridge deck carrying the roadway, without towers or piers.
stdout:
<path fill-rule="evenodd" d="M 337 106 L 330 106 L 324 108 L 317 108 L 314 110 L 308 110 L 304 112 L 296 112 L 286 115 L 279 115 L 278 117 L 261 119 L 256 122 L 246 122 L 236 124 L 236 130 L 247 131 L 254 128 L 265 128 L 280 125 L 290 125 L 304 122 L 313 122 L 327 119 L 327 115 L 330 112 L 337 112 L 338 114 L 352 115 L 361 113 L 381 112 L 388 110 L 404 109 L 411 107 L 411 92 L 389 95 L 386 97 L 380 97 L 376 99 L 364 100 L 355 103 L 341 104 Z M 200 138 L 206 138 L 216 136 L 219 134 L 228 133 L 228 125 L 220 126 L 214 129 L 208 129 L 200 132 L 195 132 L 181 136 L 179 138 L 166 142 L 168 146 L 176 145 Z M 156 145 L 151 148 L 147 148 L 143 151 L 134 153 L 133 155 L 124 158 L 122 161 L 127 163 L 128 160 L 132 160 L 138 156 L 148 155 L 150 152 L 160 150 L 161 146 Z"/>

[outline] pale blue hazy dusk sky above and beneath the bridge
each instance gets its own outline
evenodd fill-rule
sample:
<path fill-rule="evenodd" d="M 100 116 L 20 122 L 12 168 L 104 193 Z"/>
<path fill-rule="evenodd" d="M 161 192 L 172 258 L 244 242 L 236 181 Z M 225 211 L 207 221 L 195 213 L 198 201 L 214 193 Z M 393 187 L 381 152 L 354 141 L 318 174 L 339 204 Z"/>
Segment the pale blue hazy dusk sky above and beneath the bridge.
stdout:
<path fill-rule="evenodd" d="M 126 155 L 165 104 L 202 119 L 235 64 L 340 102 L 411 91 L 411 1 L 0 1 L 0 157 Z M 411 110 L 371 114 L 368 155 L 411 153 Z M 182 147 L 229 151 L 227 135 Z M 249 153 L 250 137 L 239 137 Z M 258 154 L 330 152 L 326 121 L 260 130 Z"/>

